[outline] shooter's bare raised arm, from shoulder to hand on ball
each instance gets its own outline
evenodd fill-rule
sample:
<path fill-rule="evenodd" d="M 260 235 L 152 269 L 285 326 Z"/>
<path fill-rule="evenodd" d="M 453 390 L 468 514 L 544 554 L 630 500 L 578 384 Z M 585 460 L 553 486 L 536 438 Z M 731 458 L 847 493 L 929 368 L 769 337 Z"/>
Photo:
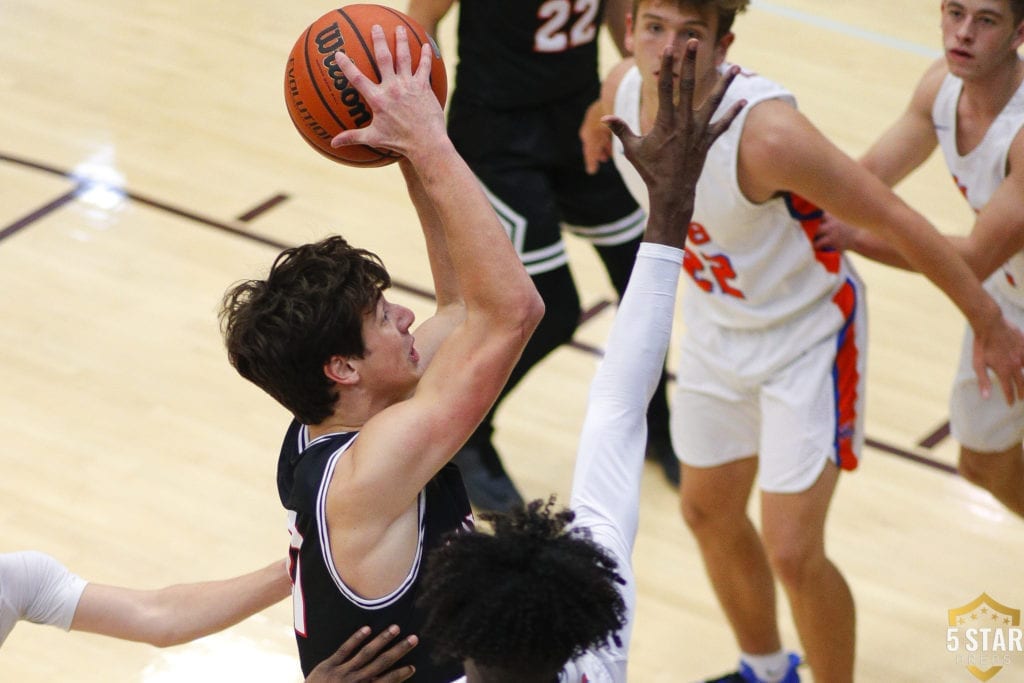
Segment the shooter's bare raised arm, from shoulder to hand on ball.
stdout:
<path fill-rule="evenodd" d="M 351 457 L 339 463 L 346 475 L 332 482 L 328 514 L 344 518 L 346 526 L 362 526 L 366 520 L 379 528 L 409 508 L 489 410 L 544 312 L 476 176 L 449 139 L 440 106 L 431 99 L 430 49 L 423 50 L 413 71 L 401 29 L 396 43 L 392 57 L 383 32 L 375 29 L 380 85 L 339 55 L 339 66 L 367 97 L 374 119 L 336 141 L 384 146 L 409 160 L 416 186 L 442 228 L 466 315 L 438 348 L 415 395 L 369 420 Z"/>

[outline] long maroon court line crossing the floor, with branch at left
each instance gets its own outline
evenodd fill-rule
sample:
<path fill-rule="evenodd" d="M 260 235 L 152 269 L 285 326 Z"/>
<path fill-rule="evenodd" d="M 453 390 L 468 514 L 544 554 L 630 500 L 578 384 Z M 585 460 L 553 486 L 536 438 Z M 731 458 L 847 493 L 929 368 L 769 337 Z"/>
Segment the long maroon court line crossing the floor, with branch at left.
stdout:
<path fill-rule="evenodd" d="M 67 172 L 65 170 L 57 169 L 57 168 L 52 167 L 52 166 L 47 166 L 47 165 L 41 164 L 39 162 L 33 162 L 33 161 L 29 161 L 29 160 L 26 160 L 26 159 L 20 159 L 20 158 L 17 158 L 17 157 L 12 157 L 10 155 L 6 155 L 6 154 L 3 154 L 3 153 L 0 153 L 0 161 L 6 161 L 6 162 L 9 162 L 11 164 L 15 164 L 17 166 L 24 166 L 26 168 L 32 168 L 32 169 L 36 169 L 36 170 L 39 170 L 39 171 L 44 171 L 46 173 L 50 173 L 50 174 L 53 174 L 53 175 L 58 175 L 58 176 L 60 176 L 62 178 L 68 178 L 68 179 L 71 179 L 71 180 L 78 180 L 75 176 L 73 176 L 71 173 L 69 173 L 69 172 Z M 5 237 L 8 237 L 9 234 L 12 234 L 13 232 L 16 232 L 17 230 L 24 228 L 26 225 L 29 225 L 32 222 L 36 221 L 36 220 L 39 220 L 40 217 L 45 216 L 48 213 L 51 213 L 51 212 L 55 211 L 56 209 L 60 208 L 61 206 L 68 204 L 71 201 L 73 201 L 75 199 L 75 197 L 76 197 L 76 195 L 77 195 L 78 191 L 79 191 L 79 187 L 76 187 L 75 189 L 73 189 L 73 190 L 71 190 L 71 191 L 62 195 L 61 197 L 58 197 L 57 199 L 53 200 L 52 202 L 50 202 L 46 206 L 40 207 L 39 209 L 37 209 L 36 211 L 33 211 L 28 216 L 25 216 L 24 218 L 20 218 L 17 221 L 11 223 L 7 227 L 5 227 L 3 229 L 3 231 L 0 231 L 0 240 L 2 240 Z M 165 211 L 165 212 L 170 213 L 170 214 L 172 214 L 174 216 L 178 216 L 179 218 L 184 218 L 185 220 L 189 220 L 189 221 L 199 223 L 201 225 L 206 225 L 207 227 L 212 227 L 212 228 L 215 228 L 215 229 L 218 229 L 218 230 L 222 230 L 222 231 L 227 232 L 229 234 L 233 234 L 233 236 L 237 236 L 237 237 L 240 237 L 240 238 L 244 238 L 246 240 L 251 240 L 251 241 L 254 241 L 254 242 L 258 242 L 260 244 L 267 245 L 269 247 L 273 247 L 273 248 L 279 249 L 279 250 L 281 250 L 281 249 L 287 249 L 288 247 L 291 246 L 291 245 L 287 245 L 287 244 L 285 244 L 283 242 L 280 242 L 278 240 L 272 240 L 270 238 L 266 238 L 266 237 L 263 237 L 261 234 L 257 234 L 255 232 L 250 232 L 249 230 L 246 230 L 246 229 L 243 229 L 243 228 L 240 228 L 240 227 L 236 227 L 233 225 L 229 225 L 229 224 L 227 224 L 227 223 L 225 223 L 223 221 L 219 221 L 219 220 L 216 220 L 216 219 L 213 219 L 213 218 L 209 218 L 207 216 L 202 216 L 202 215 L 200 215 L 198 213 L 195 213 L 193 211 L 188 211 L 186 209 L 182 209 L 180 207 L 176 207 L 176 206 L 173 206 L 173 205 L 167 204 L 165 202 L 161 202 L 161 201 L 158 201 L 158 200 L 155 200 L 155 199 L 142 196 L 142 195 L 136 195 L 135 193 L 131 193 L 131 191 L 125 190 L 125 197 L 127 197 L 127 198 L 129 198 L 129 199 L 131 199 L 131 200 L 133 200 L 135 202 L 138 202 L 140 204 L 143 204 L 145 206 L 152 207 L 154 209 L 159 209 L 160 211 Z M 425 299 L 433 299 L 434 298 L 433 293 L 430 292 L 430 291 L 428 291 L 428 290 L 424 290 L 424 289 L 421 289 L 421 288 L 418 288 L 418 287 L 413 287 L 413 286 L 410 286 L 410 285 L 400 284 L 400 283 L 397 283 L 397 282 L 393 283 L 393 286 L 397 290 L 401 290 L 403 292 L 415 294 L 415 295 L 423 297 Z M 591 309 L 591 310 L 593 310 L 593 309 Z M 568 342 L 568 345 L 571 346 L 572 348 L 575 348 L 578 350 L 584 351 L 586 353 L 590 353 L 592 355 L 600 356 L 600 355 L 604 354 L 604 352 L 603 352 L 602 349 L 600 349 L 600 348 L 598 348 L 596 346 L 593 346 L 591 344 L 584 343 L 584 342 L 570 341 L 570 342 Z M 879 451 L 882 451 L 883 453 L 888 453 L 888 454 L 893 455 L 893 456 L 904 458 L 904 459 L 909 460 L 911 462 L 915 462 L 915 463 L 919 463 L 921 465 L 925 465 L 926 467 L 932 467 L 934 469 L 941 470 L 943 472 L 947 472 L 947 473 L 950 473 L 950 474 L 956 474 L 956 468 L 955 467 L 952 467 L 952 466 L 947 465 L 945 463 L 941 463 L 941 462 L 932 460 L 931 458 L 926 458 L 924 456 L 919 456 L 918 454 L 911 453 L 911 452 L 906 451 L 904 449 L 900 449 L 898 446 L 891 445 L 889 443 L 883 443 L 882 441 L 878 441 L 878 440 L 872 439 L 872 438 L 868 438 L 866 440 L 866 443 L 867 443 L 867 445 L 869 445 L 869 446 L 871 446 L 873 449 L 878 449 Z"/>

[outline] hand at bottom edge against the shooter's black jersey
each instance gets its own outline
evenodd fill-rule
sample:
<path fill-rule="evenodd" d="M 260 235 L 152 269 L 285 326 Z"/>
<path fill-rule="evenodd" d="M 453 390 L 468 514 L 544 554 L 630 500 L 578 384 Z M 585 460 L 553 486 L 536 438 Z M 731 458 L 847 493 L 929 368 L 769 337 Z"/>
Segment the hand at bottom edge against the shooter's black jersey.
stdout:
<path fill-rule="evenodd" d="M 398 627 L 390 626 L 362 645 L 370 636 L 370 627 L 362 627 L 316 665 L 305 683 L 399 683 L 412 678 L 416 669 L 411 665 L 388 671 L 419 642 L 416 636 L 409 636 L 387 647 L 397 635 Z"/>

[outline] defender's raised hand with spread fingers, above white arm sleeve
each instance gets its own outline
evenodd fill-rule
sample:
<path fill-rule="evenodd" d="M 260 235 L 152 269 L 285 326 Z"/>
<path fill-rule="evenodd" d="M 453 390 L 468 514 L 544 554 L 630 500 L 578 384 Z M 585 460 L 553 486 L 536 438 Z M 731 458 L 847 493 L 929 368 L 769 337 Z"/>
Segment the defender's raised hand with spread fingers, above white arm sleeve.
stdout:
<path fill-rule="evenodd" d="M 666 48 L 657 82 L 657 116 L 647 135 L 637 135 L 617 117 L 602 119 L 622 140 L 626 158 L 647 185 L 651 213 L 655 207 L 669 214 L 692 211 L 693 193 L 708 151 L 746 103 L 737 101 L 717 121 L 712 121 L 726 89 L 739 73 L 738 67 L 732 67 L 700 106 L 693 109 L 696 54 L 697 41 L 687 41 L 676 101 L 677 58 L 671 48 Z"/>

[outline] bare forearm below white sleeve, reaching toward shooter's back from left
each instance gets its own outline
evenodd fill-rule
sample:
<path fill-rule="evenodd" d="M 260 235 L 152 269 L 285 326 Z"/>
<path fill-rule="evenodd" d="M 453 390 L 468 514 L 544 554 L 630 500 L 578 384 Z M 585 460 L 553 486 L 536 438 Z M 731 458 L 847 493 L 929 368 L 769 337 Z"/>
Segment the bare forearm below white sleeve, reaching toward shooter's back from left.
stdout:
<path fill-rule="evenodd" d="M 89 584 L 71 628 L 168 647 L 222 631 L 290 593 L 284 561 L 224 581 L 150 591 Z"/>

